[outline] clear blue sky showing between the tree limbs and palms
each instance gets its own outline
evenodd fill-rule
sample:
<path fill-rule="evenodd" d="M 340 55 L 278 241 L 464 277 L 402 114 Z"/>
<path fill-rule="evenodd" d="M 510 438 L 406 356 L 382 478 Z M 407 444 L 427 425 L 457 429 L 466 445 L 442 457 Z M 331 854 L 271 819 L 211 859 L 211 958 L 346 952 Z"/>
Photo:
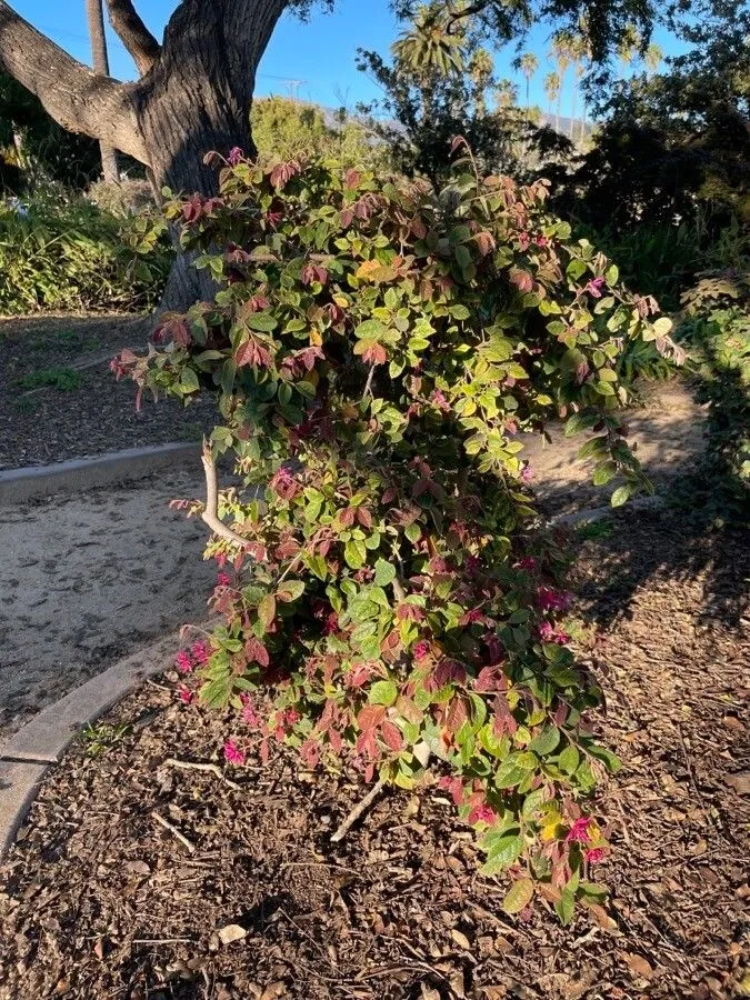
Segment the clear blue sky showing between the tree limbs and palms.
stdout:
<path fill-rule="evenodd" d="M 82 62 L 90 61 L 87 37 L 84 0 L 10 0 L 14 9 L 27 20 L 49 34 Z M 161 38 L 163 26 L 176 0 L 136 0 L 136 6 L 153 33 Z M 108 26 L 109 30 L 109 26 Z M 383 54 L 399 32 L 399 26 L 389 10 L 388 0 L 338 0 L 336 11 L 324 14 L 313 11 L 303 23 L 293 14 L 284 14 L 277 27 L 263 57 L 257 81 L 257 93 L 294 93 L 298 97 L 353 109 L 358 101 L 377 99 L 379 89 L 363 73 L 358 72 L 354 57 L 358 47 L 374 49 Z M 546 109 L 542 79 L 553 66 L 547 64 L 549 29 L 539 26 L 524 46 L 540 59 L 540 69 L 532 81 L 531 100 Z M 112 76 L 131 79 L 134 68 L 122 43 L 110 38 Z M 662 48 L 670 50 L 669 40 L 657 37 Z M 519 84 L 521 99 L 523 78 L 511 67 L 516 52 L 508 48 L 498 53 L 497 69 L 501 77 L 509 77 Z M 562 112 L 570 108 L 571 77 L 563 90 Z"/>

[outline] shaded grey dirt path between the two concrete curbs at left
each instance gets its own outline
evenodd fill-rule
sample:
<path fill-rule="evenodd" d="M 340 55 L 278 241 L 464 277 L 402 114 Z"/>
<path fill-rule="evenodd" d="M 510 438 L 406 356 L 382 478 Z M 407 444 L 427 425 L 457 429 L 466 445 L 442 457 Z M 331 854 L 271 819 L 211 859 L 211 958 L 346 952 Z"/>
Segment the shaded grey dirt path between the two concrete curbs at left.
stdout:
<path fill-rule="evenodd" d="M 138 643 L 204 614 L 206 529 L 168 507 L 201 489 L 171 473 L 0 508 L 0 740 Z"/>

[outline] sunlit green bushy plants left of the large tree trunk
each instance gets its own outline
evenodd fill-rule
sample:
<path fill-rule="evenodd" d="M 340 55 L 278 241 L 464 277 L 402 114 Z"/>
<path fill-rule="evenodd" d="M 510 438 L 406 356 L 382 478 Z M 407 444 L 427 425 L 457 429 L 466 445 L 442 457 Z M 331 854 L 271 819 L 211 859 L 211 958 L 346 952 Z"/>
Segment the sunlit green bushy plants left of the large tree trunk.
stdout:
<path fill-rule="evenodd" d="M 67 193 L 0 201 L 0 313 L 156 304 L 171 250 L 156 238 L 147 247 L 130 239 L 142 224 Z"/>

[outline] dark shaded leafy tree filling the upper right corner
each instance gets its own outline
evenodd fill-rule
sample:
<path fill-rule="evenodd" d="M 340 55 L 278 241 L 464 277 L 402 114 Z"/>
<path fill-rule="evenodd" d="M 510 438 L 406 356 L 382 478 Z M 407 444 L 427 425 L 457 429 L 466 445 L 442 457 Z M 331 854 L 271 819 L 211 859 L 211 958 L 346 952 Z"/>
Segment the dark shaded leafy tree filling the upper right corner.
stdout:
<path fill-rule="evenodd" d="M 568 199 L 594 226 L 677 223 L 750 231 L 750 10 L 707 0 L 688 51 L 616 87 Z"/>

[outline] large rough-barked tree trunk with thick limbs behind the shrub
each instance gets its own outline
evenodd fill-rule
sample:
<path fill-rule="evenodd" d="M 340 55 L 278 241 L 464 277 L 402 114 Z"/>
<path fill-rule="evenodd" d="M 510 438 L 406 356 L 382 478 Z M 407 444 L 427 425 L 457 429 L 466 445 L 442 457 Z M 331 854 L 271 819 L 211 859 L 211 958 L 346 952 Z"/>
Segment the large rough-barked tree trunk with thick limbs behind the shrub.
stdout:
<path fill-rule="evenodd" d="M 240 147 L 252 154 L 250 102 L 258 63 L 289 0 L 181 0 L 161 47 L 132 0 L 107 0 L 112 26 L 143 76 L 119 83 L 92 73 L 0 0 L 0 68 L 36 93 L 64 128 L 104 140 L 150 171 L 158 190 L 216 194 L 203 158 Z M 178 258 L 163 308 L 212 293 Z"/>

